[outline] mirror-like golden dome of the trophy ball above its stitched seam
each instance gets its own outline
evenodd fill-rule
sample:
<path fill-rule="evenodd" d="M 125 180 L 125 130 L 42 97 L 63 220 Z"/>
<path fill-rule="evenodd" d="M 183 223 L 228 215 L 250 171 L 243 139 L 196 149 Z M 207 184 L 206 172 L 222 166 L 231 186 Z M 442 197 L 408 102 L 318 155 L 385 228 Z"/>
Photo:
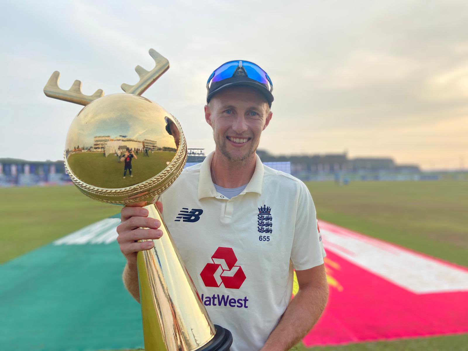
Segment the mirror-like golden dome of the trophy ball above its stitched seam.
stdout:
<path fill-rule="evenodd" d="M 99 188 L 125 188 L 151 179 L 174 159 L 180 132 L 177 127 L 171 132 L 169 125 L 176 126 L 175 118 L 154 102 L 143 97 L 135 101 L 134 96 L 104 96 L 73 120 L 66 138 L 66 162 L 80 181 Z M 133 116 L 135 109 L 138 116 Z M 93 128 L 83 128 L 91 123 Z M 142 125 L 146 127 L 141 129 Z M 101 131 L 107 135 L 95 135 Z M 130 172 L 124 175 L 127 164 Z"/>

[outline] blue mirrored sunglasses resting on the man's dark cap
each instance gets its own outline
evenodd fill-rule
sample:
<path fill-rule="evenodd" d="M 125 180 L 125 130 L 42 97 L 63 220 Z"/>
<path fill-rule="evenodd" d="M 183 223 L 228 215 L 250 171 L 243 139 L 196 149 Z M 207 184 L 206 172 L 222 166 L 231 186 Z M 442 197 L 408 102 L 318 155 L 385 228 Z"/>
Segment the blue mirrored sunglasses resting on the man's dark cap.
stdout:
<path fill-rule="evenodd" d="M 210 88 L 211 83 L 231 78 L 241 67 L 244 69 L 247 77 L 252 80 L 256 80 L 259 83 L 266 84 L 270 92 L 273 90 L 273 83 L 271 82 L 270 77 L 262 68 L 260 68 L 260 66 L 257 66 L 253 62 L 242 60 L 229 61 L 216 68 L 213 73 L 211 73 L 210 78 L 208 78 L 206 87 Z"/>

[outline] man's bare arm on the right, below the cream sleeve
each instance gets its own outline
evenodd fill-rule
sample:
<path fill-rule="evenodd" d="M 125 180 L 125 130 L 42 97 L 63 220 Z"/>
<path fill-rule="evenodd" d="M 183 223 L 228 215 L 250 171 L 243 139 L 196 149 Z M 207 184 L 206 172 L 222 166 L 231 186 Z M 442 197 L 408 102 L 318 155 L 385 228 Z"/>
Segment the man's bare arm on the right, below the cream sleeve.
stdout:
<path fill-rule="evenodd" d="M 319 320 L 328 300 L 324 264 L 296 271 L 299 292 L 260 351 L 286 351 L 298 343 Z"/>

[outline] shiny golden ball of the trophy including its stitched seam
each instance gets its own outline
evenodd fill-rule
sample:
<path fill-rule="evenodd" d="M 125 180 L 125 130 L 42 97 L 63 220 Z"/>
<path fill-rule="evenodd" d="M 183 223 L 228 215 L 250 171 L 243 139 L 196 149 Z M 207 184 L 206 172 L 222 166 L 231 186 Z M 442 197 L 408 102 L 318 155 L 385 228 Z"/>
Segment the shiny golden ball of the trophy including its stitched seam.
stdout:
<path fill-rule="evenodd" d="M 127 171 L 124 178 L 127 147 L 133 152 L 132 176 Z M 180 124 L 160 105 L 113 94 L 88 104 L 73 120 L 66 168 L 80 190 L 99 201 L 151 201 L 182 171 L 186 148 Z"/>

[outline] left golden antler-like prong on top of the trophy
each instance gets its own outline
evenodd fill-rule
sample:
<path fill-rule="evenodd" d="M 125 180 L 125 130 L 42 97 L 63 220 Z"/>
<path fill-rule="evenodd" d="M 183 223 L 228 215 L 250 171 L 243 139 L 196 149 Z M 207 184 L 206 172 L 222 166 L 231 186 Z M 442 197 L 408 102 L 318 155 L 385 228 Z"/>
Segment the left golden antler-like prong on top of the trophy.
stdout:
<path fill-rule="evenodd" d="M 44 87 L 44 94 L 54 99 L 64 100 L 68 102 L 77 103 L 79 105 L 88 105 L 89 102 L 95 101 L 104 96 L 102 89 L 97 89 L 93 95 L 83 95 L 81 92 L 81 81 L 75 80 L 72 88 L 62 90 L 59 88 L 60 72 L 55 71 L 52 73 L 51 78 Z"/>

